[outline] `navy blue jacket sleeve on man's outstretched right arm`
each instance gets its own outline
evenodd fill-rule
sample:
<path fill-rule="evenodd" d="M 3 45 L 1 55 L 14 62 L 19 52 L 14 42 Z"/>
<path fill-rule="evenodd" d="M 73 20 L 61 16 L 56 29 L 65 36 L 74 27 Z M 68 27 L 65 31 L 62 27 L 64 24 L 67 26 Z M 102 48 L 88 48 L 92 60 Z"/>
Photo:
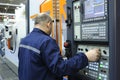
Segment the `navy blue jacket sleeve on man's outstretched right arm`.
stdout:
<path fill-rule="evenodd" d="M 45 65 L 57 76 L 72 75 L 88 65 L 88 59 L 84 53 L 76 54 L 69 60 L 63 60 L 55 40 L 46 41 L 42 50 Z"/>

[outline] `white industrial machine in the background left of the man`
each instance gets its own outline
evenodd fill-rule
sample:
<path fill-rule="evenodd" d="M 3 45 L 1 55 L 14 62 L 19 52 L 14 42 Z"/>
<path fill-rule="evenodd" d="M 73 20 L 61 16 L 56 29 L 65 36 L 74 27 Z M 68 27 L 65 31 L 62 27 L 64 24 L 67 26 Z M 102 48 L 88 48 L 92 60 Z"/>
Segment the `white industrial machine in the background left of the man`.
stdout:
<path fill-rule="evenodd" d="M 18 67 L 18 48 L 22 38 L 26 36 L 25 5 L 17 5 L 15 14 L 5 15 L 4 29 L 4 51 L 5 58 Z M 22 32 L 21 32 L 22 31 Z"/>

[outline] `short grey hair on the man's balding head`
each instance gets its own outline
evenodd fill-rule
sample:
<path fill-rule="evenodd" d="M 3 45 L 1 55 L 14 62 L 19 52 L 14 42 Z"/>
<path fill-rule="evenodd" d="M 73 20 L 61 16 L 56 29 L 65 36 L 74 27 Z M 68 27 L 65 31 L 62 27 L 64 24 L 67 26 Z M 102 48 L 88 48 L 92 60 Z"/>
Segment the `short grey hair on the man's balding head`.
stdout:
<path fill-rule="evenodd" d="M 45 13 L 39 14 L 34 20 L 35 20 L 35 25 L 40 24 L 42 26 L 44 26 L 48 22 L 52 22 L 52 18 Z"/>

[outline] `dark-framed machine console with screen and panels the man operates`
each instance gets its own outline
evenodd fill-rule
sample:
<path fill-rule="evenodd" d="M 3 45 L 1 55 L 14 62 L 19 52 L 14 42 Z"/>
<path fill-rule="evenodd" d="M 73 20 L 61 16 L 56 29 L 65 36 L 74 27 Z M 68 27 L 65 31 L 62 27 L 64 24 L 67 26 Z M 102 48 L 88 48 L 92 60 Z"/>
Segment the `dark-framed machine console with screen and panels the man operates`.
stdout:
<path fill-rule="evenodd" d="M 101 50 L 99 61 L 89 62 L 69 80 L 120 79 L 119 4 L 119 0 L 67 0 L 66 56 L 93 48 Z"/>

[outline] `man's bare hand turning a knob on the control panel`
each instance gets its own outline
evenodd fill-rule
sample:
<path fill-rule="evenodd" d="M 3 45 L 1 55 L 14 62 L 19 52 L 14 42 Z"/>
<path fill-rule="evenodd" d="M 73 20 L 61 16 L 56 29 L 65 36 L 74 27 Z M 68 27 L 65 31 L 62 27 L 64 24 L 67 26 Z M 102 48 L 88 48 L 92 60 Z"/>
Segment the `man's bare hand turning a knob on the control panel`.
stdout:
<path fill-rule="evenodd" d="M 91 62 L 98 61 L 101 56 L 100 49 L 97 49 L 97 48 L 89 50 L 85 54 L 86 54 L 88 60 Z"/>

